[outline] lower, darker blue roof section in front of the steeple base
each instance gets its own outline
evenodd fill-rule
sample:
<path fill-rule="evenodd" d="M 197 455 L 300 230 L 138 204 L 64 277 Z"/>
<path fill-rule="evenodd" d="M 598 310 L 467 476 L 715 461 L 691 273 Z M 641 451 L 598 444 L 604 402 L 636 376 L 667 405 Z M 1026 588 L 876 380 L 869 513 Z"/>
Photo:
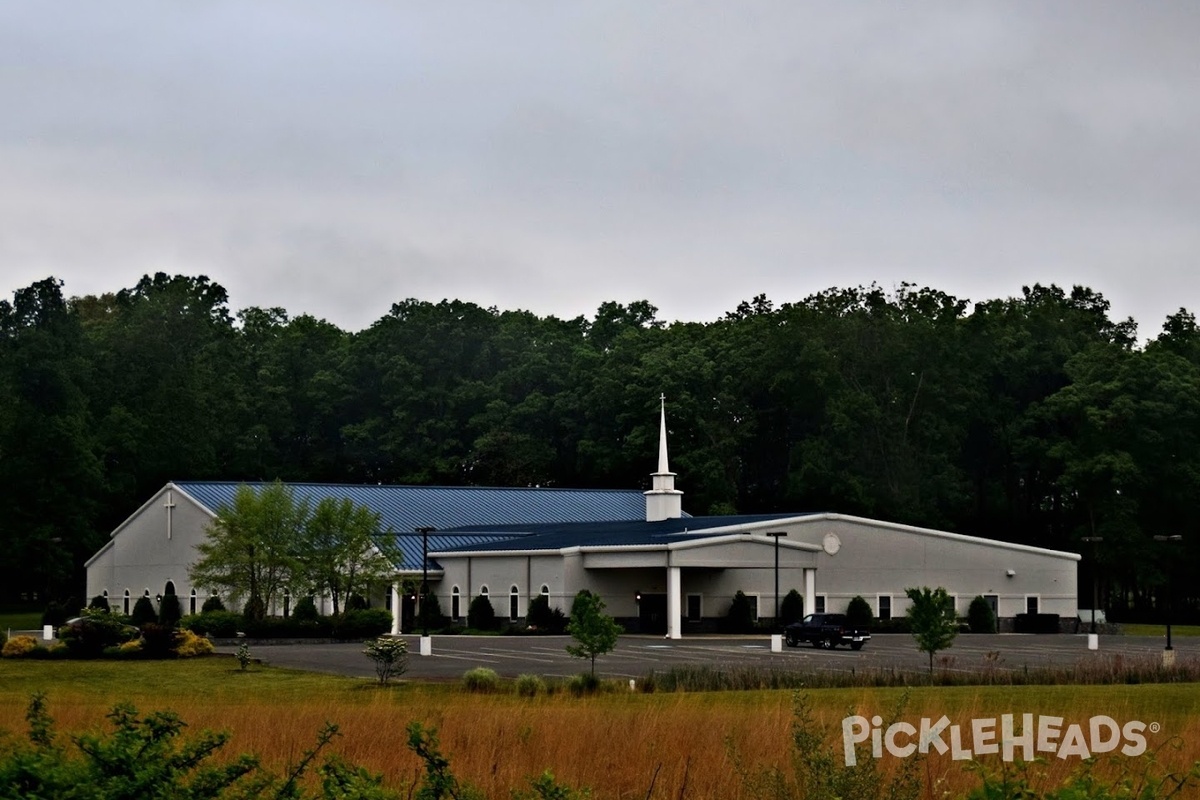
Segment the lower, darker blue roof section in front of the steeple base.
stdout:
<path fill-rule="evenodd" d="M 487 542 L 469 542 L 458 547 L 434 548 L 431 552 L 487 552 L 487 551 L 557 551 L 564 547 L 632 547 L 637 545 L 666 545 L 673 541 L 720 536 L 713 529 L 734 525 L 750 525 L 773 519 L 791 519 L 804 517 L 804 513 L 737 515 L 730 517 L 684 517 L 683 519 L 662 519 L 660 522 L 623 521 L 623 522 L 583 522 L 545 525 L 505 525 L 488 528 L 469 528 L 462 533 L 514 536 L 520 539 L 497 537 Z M 451 531 L 445 531 L 451 533 Z"/>

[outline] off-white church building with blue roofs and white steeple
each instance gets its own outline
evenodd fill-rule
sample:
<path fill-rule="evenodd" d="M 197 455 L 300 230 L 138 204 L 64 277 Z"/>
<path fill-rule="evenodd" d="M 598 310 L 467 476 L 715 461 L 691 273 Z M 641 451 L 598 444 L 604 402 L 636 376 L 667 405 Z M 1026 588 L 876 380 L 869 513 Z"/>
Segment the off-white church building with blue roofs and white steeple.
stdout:
<path fill-rule="evenodd" d="M 378 597 L 392 613 L 394 632 L 412 618 L 398 582 L 422 573 L 454 619 L 463 620 L 470 600 L 485 595 L 498 618 L 521 622 L 538 595 L 566 612 L 588 589 L 626 630 L 672 638 L 713 630 L 738 591 L 764 619 L 793 589 L 805 613 L 841 612 L 860 595 L 877 618 L 902 616 L 911 587 L 944 587 L 961 615 L 976 596 L 1002 620 L 1078 614 L 1075 553 L 826 512 L 689 516 L 668 468 L 665 411 L 658 461 L 648 492 L 290 487 L 312 503 L 349 498 L 395 533 L 403 563 L 397 583 Z M 198 610 L 209 590 L 188 583 L 188 566 L 239 486 L 164 486 L 89 559 L 88 596 L 107 596 L 127 612 L 139 596 L 174 591 L 185 612 Z M 434 529 L 426 534 L 424 564 L 422 528 Z"/>

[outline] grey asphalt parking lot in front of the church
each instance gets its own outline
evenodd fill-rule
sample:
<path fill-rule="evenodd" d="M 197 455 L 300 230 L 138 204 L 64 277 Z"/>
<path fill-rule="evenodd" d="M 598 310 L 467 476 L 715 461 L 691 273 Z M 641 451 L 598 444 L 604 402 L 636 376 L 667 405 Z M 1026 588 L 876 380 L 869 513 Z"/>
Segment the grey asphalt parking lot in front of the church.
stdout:
<path fill-rule="evenodd" d="M 565 636 L 497 637 L 434 636 L 433 652 L 420 656 L 418 637 L 404 637 L 412 654 L 408 678 L 454 680 L 472 667 L 490 667 L 504 676 L 520 674 L 571 675 L 587 668 L 569 656 Z M 1162 656 L 1162 637 L 1102 636 L 1098 651 L 1087 649 L 1086 636 L 962 634 L 954 646 L 940 652 L 935 664 L 952 672 L 1072 666 L 1088 661 L 1122 658 L 1153 661 Z M 1200 639 L 1176 638 L 1178 661 L 1200 657 Z M 233 652 L 234 648 L 220 648 Z M 362 655 L 361 644 L 254 644 L 251 655 L 266 663 L 295 669 L 342 675 L 371 676 L 373 666 Z M 640 678 L 652 669 L 677 666 L 708 666 L 715 669 L 760 667 L 786 670 L 874 672 L 880 669 L 925 669 L 928 656 L 917 650 L 911 636 L 876 636 L 860 651 L 846 648 L 820 650 L 806 645 L 784 646 L 772 652 L 770 637 L 695 637 L 662 639 L 623 636 L 612 652 L 596 658 L 596 672 L 607 678 Z"/>

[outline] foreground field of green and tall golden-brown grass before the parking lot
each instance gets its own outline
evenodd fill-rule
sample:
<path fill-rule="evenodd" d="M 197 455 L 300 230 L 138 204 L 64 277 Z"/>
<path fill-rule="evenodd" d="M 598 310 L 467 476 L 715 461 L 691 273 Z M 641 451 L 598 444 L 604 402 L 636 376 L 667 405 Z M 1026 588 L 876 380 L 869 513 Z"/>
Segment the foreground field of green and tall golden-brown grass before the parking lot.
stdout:
<path fill-rule="evenodd" d="M 575 698 L 568 693 L 522 698 L 511 692 L 470 694 L 456 685 L 398 682 L 254 666 L 241 672 L 228 657 L 168 662 L 0 662 L 0 728 L 24 730 L 32 692 L 46 692 L 58 729 L 100 729 L 118 702 L 140 710 L 170 709 L 190 729 L 233 733 L 229 751 L 253 752 L 275 768 L 296 760 L 325 722 L 344 734 L 335 752 L 384 772 L 396 788 L 412 783 L 420 764 L 404 746 L 418 720 L 439 729 L 455 772 L 508 798 L 510 789 L 550 769 L 558 780 L 589 786 L 596 798 L 740 798 L 736 762 L 744 769 L 791 774 L 793 693 L 788 691 L 640 694 L 628 691 Z M 817 722 L 841 753 L 847 714 L 888 717 L 905 690 L 833 688 L 806 693 Z M 1200 758 L 1200 692 L 1195 685 L 917 687 L 901 718 L 943 714 L 968 733 L 972 718 L 1044 714 L 1085 723 L 1104 714 L 1118 722 L 1162 727 L 1148 736 L 1165 766 Z M 869 757 L 869 750 L 860 750 Z M 995 757 L 991 757 L 995 758 Z M 1046 759 L 1051 777 L 1078 762 Z M 949 756 L 926 759 L 930 796 L 961 796 L 978 778 Z M 898 766 L 886 757 L 884 770 Z M 658 777 L 654 774 L 658 771 Z M 946 794 L 949 793 L 949 794 Z"/>

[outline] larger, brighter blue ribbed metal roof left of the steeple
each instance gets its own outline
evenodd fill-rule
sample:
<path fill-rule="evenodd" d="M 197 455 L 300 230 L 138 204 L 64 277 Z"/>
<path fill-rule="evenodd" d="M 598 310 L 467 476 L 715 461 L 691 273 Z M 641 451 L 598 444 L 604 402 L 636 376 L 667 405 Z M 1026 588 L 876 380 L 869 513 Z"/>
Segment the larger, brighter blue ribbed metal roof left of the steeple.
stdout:
<path fill-rule="evenodd" d="M 258 489 L 265 482 L 174 481 L 214 513 L 233 503 L 239 486 Z M 421 569 L 421 537 L 413 529 L 431 525 L 430 551 L 487 547 L 523 536 L 517 528 L 563 523 L 630 522 L 646 518 L 646 498 L 636 489 L 542 489 L 478 486 L 362 486 L 288 483 L 296 499 L 316 504 L 325 498 L 364 505 L 379 515 L 380 525 L 396 533 L 403 552 L 401 570 Z M 644 523 L 643 523 L 644 524 Z M 509 529 L 511 527 L 511 529 Z M 466 530 L 475 528 L 474 530 Z M 454 529 L 449 533 L 448 529 Z M 438 569 L 431 563 L 431 569 Z"/>

